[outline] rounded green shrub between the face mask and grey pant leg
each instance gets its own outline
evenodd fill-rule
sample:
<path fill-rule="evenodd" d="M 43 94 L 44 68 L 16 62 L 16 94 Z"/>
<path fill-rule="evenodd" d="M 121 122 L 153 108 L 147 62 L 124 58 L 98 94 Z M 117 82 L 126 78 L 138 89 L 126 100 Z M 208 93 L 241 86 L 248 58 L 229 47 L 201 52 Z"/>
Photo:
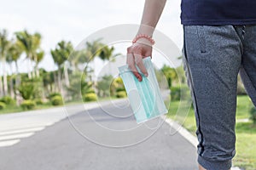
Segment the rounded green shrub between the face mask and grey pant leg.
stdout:
<path fill-rule="evenodd" d="M 187 99 L 189 97 L 189 93 L 190 91 L 187 85 L 181 85 L 181 86 L 176 86 L 171 88 L 172 100 Z"/>

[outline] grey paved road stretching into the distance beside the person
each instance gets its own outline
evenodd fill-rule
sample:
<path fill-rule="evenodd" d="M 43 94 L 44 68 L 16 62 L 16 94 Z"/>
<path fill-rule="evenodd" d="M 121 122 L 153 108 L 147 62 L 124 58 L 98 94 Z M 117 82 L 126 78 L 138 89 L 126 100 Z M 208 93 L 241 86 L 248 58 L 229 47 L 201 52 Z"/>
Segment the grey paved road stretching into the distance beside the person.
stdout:
<path fill-rule="evenodd" d="M 160 118 L 137 125 L 126 105 L 125 101 L 105 102 L 99 108 L 85 105 L 88 111 L 84 105 L 68 106 L 69 119 L 61 108 L 37 111 L 37 116 L 32 112 L 0 116 L 0 142 L 21 139 L 0 147 L 0 169 L 196 169 L 195 146 L 179 133 L 170 135 L 170 126 Z M 22 125 L 15 124 L 14 117 Z M 44 130 L 27 130 L 23 133 L 33 133 L 27 138 L 4 139 L 11 132 L 22 134 L 17 131 L 22 126 L 36 128 L 40 120 Z M 14 124 L 16 127 L 9 129 Z"/>

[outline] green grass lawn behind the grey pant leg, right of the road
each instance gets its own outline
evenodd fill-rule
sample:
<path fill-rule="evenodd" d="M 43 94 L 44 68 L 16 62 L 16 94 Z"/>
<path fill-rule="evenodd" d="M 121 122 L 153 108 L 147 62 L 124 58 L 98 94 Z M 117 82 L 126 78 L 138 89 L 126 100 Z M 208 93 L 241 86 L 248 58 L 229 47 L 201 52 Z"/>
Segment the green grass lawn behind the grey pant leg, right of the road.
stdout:
<path fill-rule="evenodd" d="M 181 103 L 180 105 L 183 106 Z M 248 96 L 237 97 L 236 120 L 245 119 L 250 116 L 249 109 L 253 104 Z M 179 101 L 173 101 L 170 104 L 168 116 L 187 128 L 190 133 L 195 135 L 195 115 L 191 108 L 189 111 L 184 109 L 184 113 L 177 114 Z M 236 156 L 234 166 L 242 167 L 246 170 L 256 169 L 256 125 L 252 122 L 236 123 Z"/>

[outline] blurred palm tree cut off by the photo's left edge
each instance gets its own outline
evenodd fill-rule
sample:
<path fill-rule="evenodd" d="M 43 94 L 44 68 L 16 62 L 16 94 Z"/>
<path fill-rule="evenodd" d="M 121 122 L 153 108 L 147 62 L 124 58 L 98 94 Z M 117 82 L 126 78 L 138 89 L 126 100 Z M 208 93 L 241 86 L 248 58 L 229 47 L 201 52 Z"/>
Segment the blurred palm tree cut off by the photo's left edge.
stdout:
<path fill-rule="evenodd" d="M 8 82 L 6 73 L 6 54 L 9 48 L 9 41 L 7 39 L 7 31 L 0 31 L 0 59 L 3 65 L 3 83 L 2 77 L 0 77 L 0 96 L 8 94 Z M 1 93 L 3 92 L 3 94 Z"/>

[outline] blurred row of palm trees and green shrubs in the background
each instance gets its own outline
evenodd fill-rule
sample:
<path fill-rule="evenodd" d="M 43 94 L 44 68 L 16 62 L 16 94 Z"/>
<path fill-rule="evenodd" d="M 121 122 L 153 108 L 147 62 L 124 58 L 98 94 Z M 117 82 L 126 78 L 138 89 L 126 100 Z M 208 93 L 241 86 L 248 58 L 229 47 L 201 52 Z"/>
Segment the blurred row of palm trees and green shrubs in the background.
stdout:
<path fill-rule="evenodd" d="M 116 56 L 121 55 L 115 52 L 115 48 L 104 44 L 101 39 L 85 42 L 82 49 L 75 49 L 72 42 L 61 40 L 50 50 L 57 69 L 45 71 L 38 68 L 45 54 L 41 38 L 40 33 L 26 30 L 15 32 L 9 38 L 8 31 L 0 30 L 0 110 L 14 105 L 24 110 L 44 104 L 63 105 L 63 99 L 65 102 L 87 102 L 127 96 L 120 77 L 104 75 L 93 81 L 94 69 L 90 64 L 96 58 L 113 62 Z M 17 62 L 21 55 L 26 56 L 22 65 Z M 19 68 L 24 65 L 30 70 L 21 73 Z M 163 65 L 159 71 L 156 70 L 156 76 L 160 83 L 168 84 L 172 100 L 189 97 L 183 65 L 177 68 Z M 161 81 L 163 77 L 166 82 Z M 237 94 L 246 94 L 240 77 Z"/>

